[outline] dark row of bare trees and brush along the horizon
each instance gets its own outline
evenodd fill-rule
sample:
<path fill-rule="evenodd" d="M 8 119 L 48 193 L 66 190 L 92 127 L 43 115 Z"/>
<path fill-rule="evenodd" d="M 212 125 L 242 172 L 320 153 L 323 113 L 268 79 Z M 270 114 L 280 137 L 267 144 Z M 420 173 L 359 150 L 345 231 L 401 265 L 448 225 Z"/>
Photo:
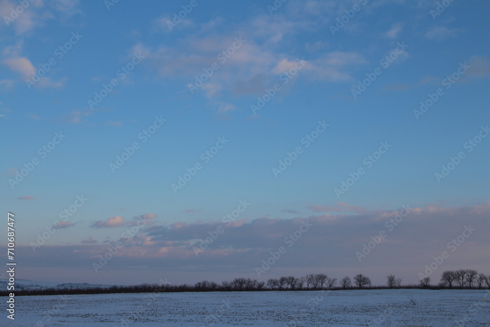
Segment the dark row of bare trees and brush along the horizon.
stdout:
<path fill-rule="evenodd" d="M 430 277 L 420 279 L 418 284 L 402 285 L 401 278 L 388 275 L 386 286 L 372 285 L 371 279 L 358 274 L 352 279 L 348 276 L 340 281 L 326 274 L 309 274 L 303 277 L 283 276 L 270 278 L 267 282 L 257 279 L 237 277 L 221 284 L 215 281 L 202 280 L 195 284 L 140 284 L 131 286 L 110 287 L 52 287 L 15 290 L 15 295 L 61 295 L 61 294 L 109 294 L 109 293 L 159 293 L 159 292 L 230 292 L 230 291 L 297 291 L 297 290 L 350 290 L 350 289 L 385 289 L 385 288 L 490 288 L 490 275 L 476 270 L 460 269 L 445 271 L 439 284 L 432 285 Z M 0 291 L 0 296 L 8 296 L 11 291 Z"/>

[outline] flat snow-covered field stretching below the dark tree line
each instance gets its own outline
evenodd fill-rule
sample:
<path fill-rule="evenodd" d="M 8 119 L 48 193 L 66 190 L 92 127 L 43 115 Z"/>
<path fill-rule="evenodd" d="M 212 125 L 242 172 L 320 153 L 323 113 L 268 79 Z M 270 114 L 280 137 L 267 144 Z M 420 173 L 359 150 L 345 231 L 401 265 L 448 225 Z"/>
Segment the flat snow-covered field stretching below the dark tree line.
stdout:
<path fill-rule="evenodd" d="M 1 326 L 490 326 L 490 292 L 485 290 L 139 293 L 15 299 L 15 321 L 7 319 L 3 310 Z M 458 325 L 458 321 L 465 323 Z"/>

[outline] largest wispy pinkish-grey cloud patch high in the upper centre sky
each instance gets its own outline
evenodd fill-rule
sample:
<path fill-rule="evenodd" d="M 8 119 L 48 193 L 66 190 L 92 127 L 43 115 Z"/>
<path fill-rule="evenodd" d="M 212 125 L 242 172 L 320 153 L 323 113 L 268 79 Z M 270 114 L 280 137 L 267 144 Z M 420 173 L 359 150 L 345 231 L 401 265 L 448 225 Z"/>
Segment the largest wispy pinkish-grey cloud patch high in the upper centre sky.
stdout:
<path fill-rule="evenodd" d="M 198 90 L 193 90 L 193 93 L 204 93 L 208 99 L 228 93 L 245 95 L 264 92 L 264 88 L 277 82 L 281 74 L 295 67 L 297 60 L 302 69 L 296 77 L 305 75 L 312 80 L 330 82 L 351 79 L 352 68 L 366 63 L 361 54 L 352 51 L 319 50 L 311 53 L 311 58 L 297 58 L 277 51 L 270 40 L 278 42 L 286 33 L 294 33 L 295 27 L 305 30 L 312 25 L 306 18 L 291 23 L 279 17 L 282 16 L 258 17 L 245 25 L 230 23 L 225 31 L 186 35 L 176 44 L 165 43 L 154 49 L 141 43 L 138 46 L 147 50 L 145 61 L 152 73 L 161 78 L 181 81 L 183 89 L 189 93 L 188 88 L 196 83 L 196 76 L 209 71 L 213 64 L 218 65 L 213 75 L 206 76 Z M 236 40 L 241 41 L 237 43 Z M 238 48 L 231 48 L 238 44 Z M 321 46 L 322 43 L 318 41 L 315 47 Z M 223 56 L 222 52 L 229 49 L 232 54 Z M 212 105 L 216 106 L 214 103 Z M 219 106 L 218 111 L 231 111 L 232 108 L 230 105 Z"/>

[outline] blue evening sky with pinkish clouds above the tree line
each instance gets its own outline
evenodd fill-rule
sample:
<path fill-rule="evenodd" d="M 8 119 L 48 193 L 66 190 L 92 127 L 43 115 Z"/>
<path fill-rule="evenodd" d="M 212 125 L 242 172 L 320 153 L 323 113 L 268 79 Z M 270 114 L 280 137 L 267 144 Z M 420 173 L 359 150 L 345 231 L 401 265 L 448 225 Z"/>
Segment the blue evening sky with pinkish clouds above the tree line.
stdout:
<path fill-rule="evenodd" d="M 490 274 L 488 1 L 21 2 L 17 278 Z"/>

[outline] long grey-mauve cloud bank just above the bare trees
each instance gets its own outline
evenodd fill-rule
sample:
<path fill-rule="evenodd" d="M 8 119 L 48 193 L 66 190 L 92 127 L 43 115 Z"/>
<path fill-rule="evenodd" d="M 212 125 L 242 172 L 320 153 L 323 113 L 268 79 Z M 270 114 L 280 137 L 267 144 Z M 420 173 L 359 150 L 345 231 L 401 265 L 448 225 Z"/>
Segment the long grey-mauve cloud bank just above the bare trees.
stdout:
<path fill-rule="evenodd" d="M 485 260 L 490 246 L 490 203 L 408 207 L 409 215 L 398 220 L 396 225 L 393 222 L 396 222 L 395 217 L 400 214 L 401 207 L 294 219 L 259 218 L 151 226 L 131 240 L 120 240 L 123 248 L 111 260 L 108 273 L 141 269 L 143 266 L 156 270 L 157 276 L 189 274 L 182 282 L 202 280 L 203 276 L 212 276 L 220 281 L 234 278 L 237 274 L 257 278 L 255 268 L 262 265 L 262 260 L 267 260 L 271 251 L 284 246 L 286 253 L 259 279 L 303 276 L 317 271 L 336 278 L 354 276 L 359 274 L 360 267 L 355 253 L 362 251 L 363 244 L 372 241 L 371 236 L 379 235 L 381 230 L 387 236 L 362 261 L 362 273 L 373 277 L 375 283 L 385 282 L 387 273 L 399 276 L 407 283 L 416 283 L 417 273 L 423 271 L 424 265 L 430 264 L 435 253 L 442 251 L 450 253 L 450 259 L 444 261 L 444 270 L 467 266 L 482 271 L 488 268 Z M 299 236 L 296 231 L 303 223 L 311 226 L 307 231 L 303 228 Z M 200 240 L 210 237 L 210 233 L 216 232 L 219 226 L 223 232 L 218 233 L 213 242 L 208 242 L 210 244 L 205 250 L 196 256 L 195 248 L 201 244 Z M 465 226 L 476 230 L 455 252 L 450 252 L 448 242 L 461 235 Z M 294 237 L 295 232 L 297 241 L 289 247 L 285 238 Z M 50 246 L 45 252 L 36 253 L 27 246 L 19 251 L 33 267 L 87 269 L 107 252 L 107 245 Z M 434 276 L 441 272 L 437 270 Z"/>

